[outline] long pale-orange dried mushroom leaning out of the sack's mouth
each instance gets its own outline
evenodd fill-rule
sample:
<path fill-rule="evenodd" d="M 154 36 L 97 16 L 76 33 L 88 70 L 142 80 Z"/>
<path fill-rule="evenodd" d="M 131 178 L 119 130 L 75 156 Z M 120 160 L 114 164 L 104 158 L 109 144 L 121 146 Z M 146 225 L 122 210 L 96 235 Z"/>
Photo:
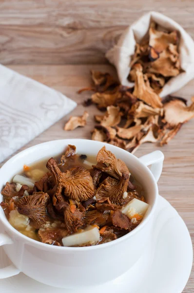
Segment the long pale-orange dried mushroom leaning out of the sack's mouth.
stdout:
<path fill-rule="evenodd" d="M 151 105 L 153 108 L 161 108 L 162 103 L 160 97 L 154 92 L 151 87 L 148 87 L 143 78 L 141 64 L 135 64 L 134 69 L 136 72 L 135 88 L 133 94 L 140 100 Z"/>

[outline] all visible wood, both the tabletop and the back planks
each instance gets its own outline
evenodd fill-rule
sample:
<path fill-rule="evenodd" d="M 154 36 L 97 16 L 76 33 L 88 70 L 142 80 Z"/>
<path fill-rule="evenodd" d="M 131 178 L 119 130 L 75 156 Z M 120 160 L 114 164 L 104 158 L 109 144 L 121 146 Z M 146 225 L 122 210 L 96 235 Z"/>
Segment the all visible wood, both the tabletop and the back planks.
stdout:
<path fill-rule="evenodd" d="M 150 10 L 172 17 L 194 38 L 191 0 L 0 0 L 0 63 L 61 91 L 78 103 L 70 115 L 82 114 L 82 102 L 90 94 L 78 95 L 77 90 L 90 84 L 90 69 L 115 73 L 104 53 L 128 24 Z M 190 99 L 194 81 L 176 94 Z M 68 115 L 22 149 L 48 140 L 90 139 L 98 110 L 95 106 L 88 110 L 84 128 L 65 132 Z M 168 146 L 147 143 L 136 156 L 158 148 L 165 156 L 159 192 L 184 219 L 194 243 L 194 120 Z M 183 293 L 194 293 L 194 271 Z"/>

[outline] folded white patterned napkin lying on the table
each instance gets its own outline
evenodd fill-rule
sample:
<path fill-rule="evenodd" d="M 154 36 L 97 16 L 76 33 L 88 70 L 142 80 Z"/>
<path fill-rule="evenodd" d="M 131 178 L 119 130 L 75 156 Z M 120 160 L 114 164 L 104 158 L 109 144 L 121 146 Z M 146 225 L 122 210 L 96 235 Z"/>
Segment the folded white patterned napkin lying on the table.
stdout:
<path fill-rule="evenodd" d="M 0 65 L 0 162 L 76 105 L 60 92 Z"/>

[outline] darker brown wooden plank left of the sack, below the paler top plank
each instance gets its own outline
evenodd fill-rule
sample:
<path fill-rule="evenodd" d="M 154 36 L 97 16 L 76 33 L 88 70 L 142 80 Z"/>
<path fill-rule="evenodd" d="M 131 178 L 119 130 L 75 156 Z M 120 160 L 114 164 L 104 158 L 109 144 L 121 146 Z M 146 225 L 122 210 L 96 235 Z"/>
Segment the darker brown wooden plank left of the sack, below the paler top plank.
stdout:
<path fill-rule="evenodd" d="M 123 27 L 71 29 L 30 25 L 0 25 L 0 63 L 108 63 L 106 51 Z"/>

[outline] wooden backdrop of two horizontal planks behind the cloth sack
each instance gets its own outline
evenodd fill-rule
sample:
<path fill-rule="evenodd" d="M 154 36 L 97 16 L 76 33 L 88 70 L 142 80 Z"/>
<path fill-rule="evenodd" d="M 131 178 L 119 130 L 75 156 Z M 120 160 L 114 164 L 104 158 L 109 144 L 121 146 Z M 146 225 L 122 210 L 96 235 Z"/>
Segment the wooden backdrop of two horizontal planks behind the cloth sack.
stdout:
<path fill-rule="evenodd" d="M 192 0 L 0 0 L 0 63 L 107 63 L 106 50 L 150 10 L 194 38 Z"/>

